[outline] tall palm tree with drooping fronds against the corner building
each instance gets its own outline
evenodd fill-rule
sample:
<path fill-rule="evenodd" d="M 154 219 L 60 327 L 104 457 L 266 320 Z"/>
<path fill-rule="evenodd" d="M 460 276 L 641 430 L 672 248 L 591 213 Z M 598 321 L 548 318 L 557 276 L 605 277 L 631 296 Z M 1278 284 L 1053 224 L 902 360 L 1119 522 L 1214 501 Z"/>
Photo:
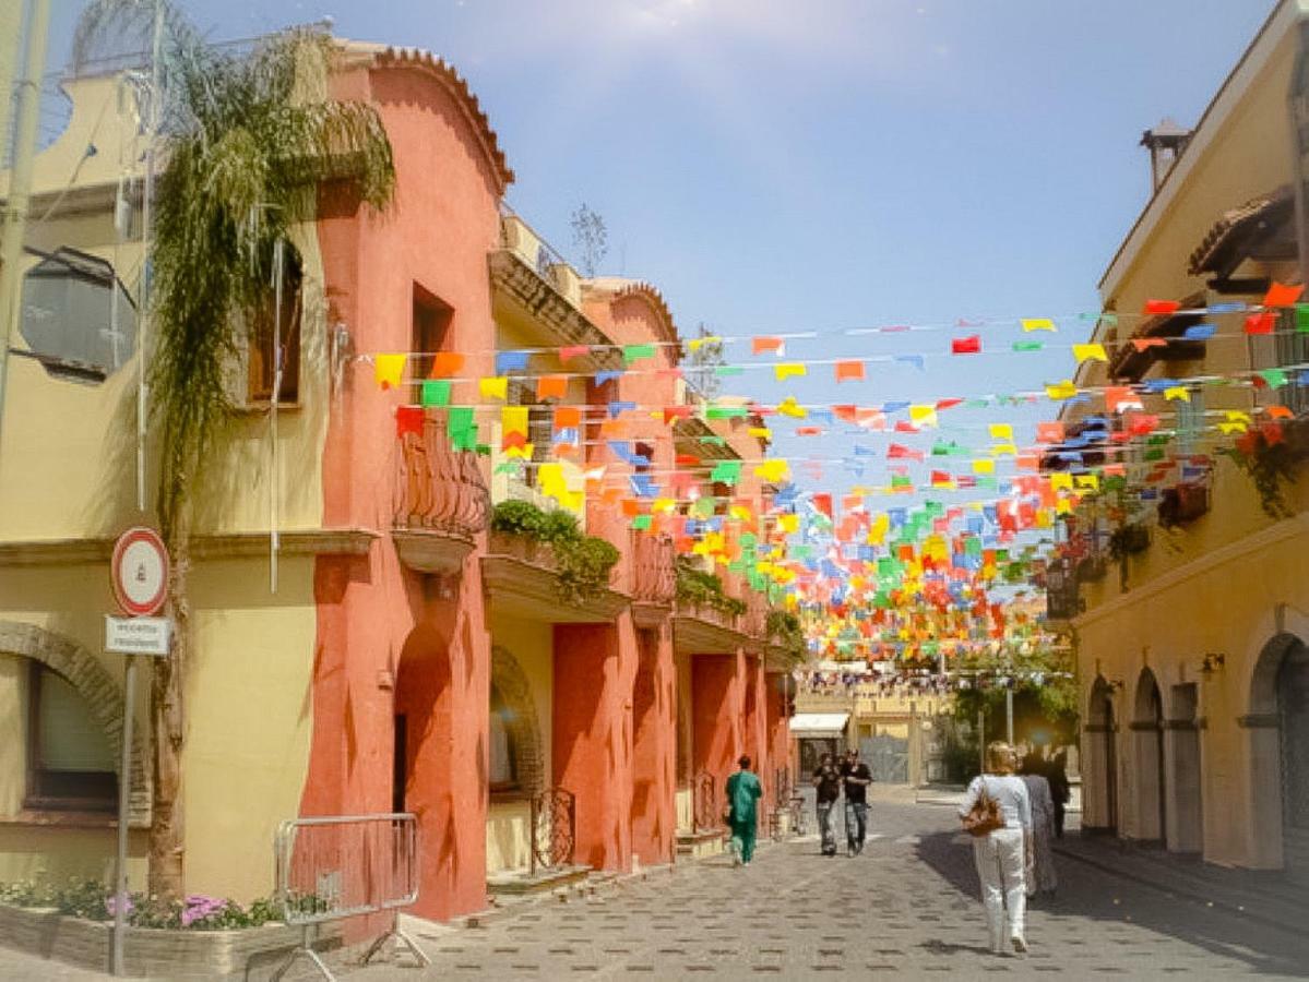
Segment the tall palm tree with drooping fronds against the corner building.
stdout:
<path fill-rule="evenodd" d="M 198 490 L 221 456 L 236 405 L 228 381 L 247 331 L 274 299 L 274 258 L 314 220 L 319 186 L 350 180 L 360 200 L 393 195 L 391 146 L 376 110 L 326 95 L 334 46 L 321 29 L 245 51 L 202 42 L 166 0 L 93 0 L 73 67 L 106 50 L 154 50 L 164 166 L 153 205 L 149 416 L 158 439 L 156 510 L 174 557 L 173 654 L 153 679 L 151 892 L 182 890 L 182 692 L 190 650 L 188 536 Z"/>

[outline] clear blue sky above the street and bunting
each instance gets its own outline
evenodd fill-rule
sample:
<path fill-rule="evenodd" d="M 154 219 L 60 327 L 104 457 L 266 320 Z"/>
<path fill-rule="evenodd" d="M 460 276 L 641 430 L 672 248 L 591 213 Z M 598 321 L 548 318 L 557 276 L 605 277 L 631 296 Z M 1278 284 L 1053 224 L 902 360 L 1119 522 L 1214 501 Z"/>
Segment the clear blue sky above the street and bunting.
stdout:
<path fill-rule="evenodd" d="M 55 63 L 80 7 L 55 0 Z M 1274 0 L 182 7 L 215 39 L 329 13 L 340 35 L 444 55 L 518 174 L 511 204 L 556 247 L 571 252 L 568 217 L 586 201 L 609 226 L 607 271 L 658 286 L 685 333 L 702 320 L 725 335 L 818 332 L 789 345 L 788 360 L 802 360 L 946 352 L 956 333 L 840 333 L 850 328 L 1094 310 L 1148 196 L 1141 131 L 1164 115 L 1194 123 Z M 1080 340 L 1075 327 L 1058 340 Z M 1016 330 L 996 336 L 1007 349 Z M 744 347 L 729 357 L 753 360 Z M 933 357 L 922 373 L 873 365 L 835 394 L 927 401 L 1071 371 L 1067 350 Z M 726 391 L 834 399 L 829 369 L 780 388 L 768 378 L 749 373 Z M 1049 404 L 1039 415 L 1052 416 Z M 1008 418 L 1037 413 L 942 422 Z M 835 435 L 779 439 L 781 454 L 797 447 L 850 452 Z M 822 483 L 852 480 L 834 479 Z"/>

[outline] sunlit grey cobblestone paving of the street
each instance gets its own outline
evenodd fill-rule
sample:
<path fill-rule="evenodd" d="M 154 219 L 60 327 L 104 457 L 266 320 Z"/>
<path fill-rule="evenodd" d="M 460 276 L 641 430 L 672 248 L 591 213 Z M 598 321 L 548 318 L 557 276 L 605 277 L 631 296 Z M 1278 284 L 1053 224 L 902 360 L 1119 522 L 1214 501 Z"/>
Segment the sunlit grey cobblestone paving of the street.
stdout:
<path fill-rule="evenodd" d="M 585 904 L 537 906 L 484 928 L 428 934 L 429 978 L 830 977 L 982 972 L 1073 978 L 1309 974 L 1309 939 L 1060 856 L 1026 956 L 992 957 L 971 851 L 942 804 L 874 803 L 863 856 L 816 841 L 768 846 L 747 870 L 719 860 L 651 873 Z M 357 982 L 415 979 L 376 966 Z"/>

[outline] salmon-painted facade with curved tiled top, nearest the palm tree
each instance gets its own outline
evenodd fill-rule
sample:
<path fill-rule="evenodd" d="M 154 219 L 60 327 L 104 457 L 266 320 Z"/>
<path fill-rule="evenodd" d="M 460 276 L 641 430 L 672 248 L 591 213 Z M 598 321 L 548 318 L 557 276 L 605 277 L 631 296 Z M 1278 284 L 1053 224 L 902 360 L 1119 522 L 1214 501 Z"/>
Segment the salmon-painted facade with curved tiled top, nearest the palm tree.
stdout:
<path fill-rule="evenodd" d="M 439 73 L 355 64 L 338 98 L 377 106 L 397 167 L 393 207 L 368 213 L 340 188 L 322 195 L 318 235 L 332 323 L 356 353 L 410 350 L 415 284 L 453 309 L 444 347 L 493 347 L 487 252 L 499 241 L 499 187 L 479 135 Z M 490 374 L 490 354 L 469 375 Z M 419 815 L 421 896 L 415 913 L 448 918 L 486 905 L 490 634 L 479 566 L 423 584 L 389 541 L 395 407 L 363 361 L 350 362 L 323 454 L 325 523 L 377 530 L 368 556 L 319 558 L 314 734 L 302 812 L 391 805 L 397 710 L 408 717 L 406 805 Z M 456 388 L 456 400 L 467 394 Z M 484 543 L 480 543 L 484 548 Z M 458 802 L 458 807 L 456 807 Z"/>

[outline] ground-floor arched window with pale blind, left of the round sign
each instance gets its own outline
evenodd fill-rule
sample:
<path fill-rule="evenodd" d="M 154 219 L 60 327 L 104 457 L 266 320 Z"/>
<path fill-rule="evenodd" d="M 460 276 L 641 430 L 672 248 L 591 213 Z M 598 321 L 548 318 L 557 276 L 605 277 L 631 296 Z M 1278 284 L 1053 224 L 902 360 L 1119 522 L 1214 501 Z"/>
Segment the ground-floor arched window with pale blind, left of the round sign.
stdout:
<path fill-rule="evenodd" d="M 33 662 L 27 676 L 26 808 L 118 807 L 114 751 L 72 684 Z"/>

